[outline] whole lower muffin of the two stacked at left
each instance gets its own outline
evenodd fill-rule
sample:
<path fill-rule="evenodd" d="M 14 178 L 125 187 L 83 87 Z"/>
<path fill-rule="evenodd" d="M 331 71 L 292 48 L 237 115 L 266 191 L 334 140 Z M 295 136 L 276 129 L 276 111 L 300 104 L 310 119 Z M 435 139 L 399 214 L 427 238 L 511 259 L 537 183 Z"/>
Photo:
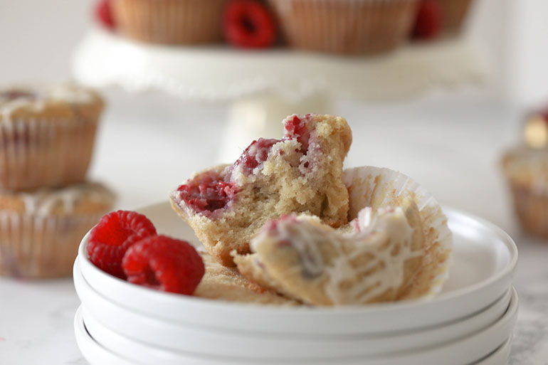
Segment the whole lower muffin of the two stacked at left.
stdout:
<path fill-rule="evenodd" d="M 0 275 L 69 276 L 80 240 L 113 202 L 94 183 L 0 192 Z"/>

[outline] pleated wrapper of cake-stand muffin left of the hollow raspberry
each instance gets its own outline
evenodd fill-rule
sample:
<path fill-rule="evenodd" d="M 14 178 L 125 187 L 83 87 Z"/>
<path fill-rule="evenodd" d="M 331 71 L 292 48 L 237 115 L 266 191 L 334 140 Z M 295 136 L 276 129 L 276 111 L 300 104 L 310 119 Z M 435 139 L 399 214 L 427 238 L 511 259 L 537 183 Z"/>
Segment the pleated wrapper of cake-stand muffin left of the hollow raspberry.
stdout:
<path fill-rule="evenodd" d="M 227 0 L 113 0 L 117 28 L 137 41 L 214 43 L 223 39 Z"/>

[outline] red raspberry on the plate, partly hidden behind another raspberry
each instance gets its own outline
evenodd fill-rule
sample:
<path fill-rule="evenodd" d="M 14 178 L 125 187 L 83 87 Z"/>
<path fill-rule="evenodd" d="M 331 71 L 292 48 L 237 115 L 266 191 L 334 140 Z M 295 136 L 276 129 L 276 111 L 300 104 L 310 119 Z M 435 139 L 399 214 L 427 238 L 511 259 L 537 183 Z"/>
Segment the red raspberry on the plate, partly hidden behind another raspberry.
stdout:
<path fill-rule="evenodd" d="M 148 236 L 155 236 L 151 221 L 135 211 L 113 211 L 103 216 L 90 232 L 88 255 L 98 268 L 125 279 L 122 258 L 128 248 Z"/>

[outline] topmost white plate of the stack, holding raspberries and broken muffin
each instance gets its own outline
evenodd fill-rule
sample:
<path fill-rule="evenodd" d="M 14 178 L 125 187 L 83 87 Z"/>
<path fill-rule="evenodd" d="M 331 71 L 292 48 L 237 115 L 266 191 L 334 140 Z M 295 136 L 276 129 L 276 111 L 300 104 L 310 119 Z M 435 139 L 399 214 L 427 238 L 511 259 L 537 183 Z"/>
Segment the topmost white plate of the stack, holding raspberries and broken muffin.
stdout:
<path fill-rule="evenodd" d="M 160 233 L 199 241 L 176 216 L 169 203 L 139 209 Z M 100 295 L 123 307 L 153 317 L 195 326 L 290 334 L 377 334 L 418 329 L 468 317 L 491 305 L 510 287 L 517 248 L 500 228 L 481 218 L 445 209 L 453 231 L 454 255 L 450 277 L 441 295 L 430 301 L 409 301 L 360 307 L 273 307 L 157 292 L 103 273 L 80 243 L 80 267 L 85 280 Z"/>

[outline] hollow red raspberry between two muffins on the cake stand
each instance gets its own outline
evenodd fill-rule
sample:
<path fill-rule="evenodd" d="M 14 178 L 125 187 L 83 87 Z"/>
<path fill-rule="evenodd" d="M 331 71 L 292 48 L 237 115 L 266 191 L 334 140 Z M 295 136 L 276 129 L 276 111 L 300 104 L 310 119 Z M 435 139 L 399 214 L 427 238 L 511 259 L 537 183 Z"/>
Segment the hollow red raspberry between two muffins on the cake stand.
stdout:
<path fill-rule="evenodd" d="M 272 15 L 257 0 L 233 0 L 228 3 L 223 29 L 228 43 L 241 48 L 267 48 L 276 39 Z"/>

